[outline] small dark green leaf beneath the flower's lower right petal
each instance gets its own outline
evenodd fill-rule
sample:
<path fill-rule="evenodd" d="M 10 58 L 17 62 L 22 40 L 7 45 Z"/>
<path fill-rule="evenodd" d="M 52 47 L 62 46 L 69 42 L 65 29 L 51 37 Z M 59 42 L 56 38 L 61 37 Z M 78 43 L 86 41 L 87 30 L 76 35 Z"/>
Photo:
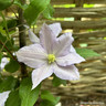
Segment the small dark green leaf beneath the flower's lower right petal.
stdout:
<path fill-rule="evenodd" d="M 61 78 L 56 77 L 55 75 L 53 77 L 52 83 L 53 83 L 53 86 L 55 86 L 55 87 L 60 86 L 61 84 L 66 86 L 66 81 L 65 80 L 61 80 Z"/>

